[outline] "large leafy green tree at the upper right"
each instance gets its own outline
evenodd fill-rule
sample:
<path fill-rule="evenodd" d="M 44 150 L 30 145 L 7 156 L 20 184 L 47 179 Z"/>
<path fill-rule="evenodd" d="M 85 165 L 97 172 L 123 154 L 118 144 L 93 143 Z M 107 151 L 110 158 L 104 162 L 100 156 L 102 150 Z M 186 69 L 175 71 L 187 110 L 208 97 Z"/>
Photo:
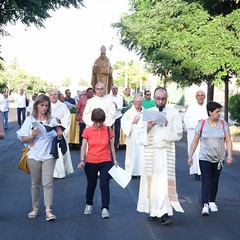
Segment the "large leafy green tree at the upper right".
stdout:
<path fill-rule="evenodd" d="M 220 11 L 219 2 L 233 4 Z M 219 2 L 131 1 L 132 11 L 113 26 L 121 44 L 137 51 L 152 73 L 181 86 L 204 81 L 209 90 L 224 82 L 227 90 L 231 75 L 240 74 L 240 5 Z"/>

